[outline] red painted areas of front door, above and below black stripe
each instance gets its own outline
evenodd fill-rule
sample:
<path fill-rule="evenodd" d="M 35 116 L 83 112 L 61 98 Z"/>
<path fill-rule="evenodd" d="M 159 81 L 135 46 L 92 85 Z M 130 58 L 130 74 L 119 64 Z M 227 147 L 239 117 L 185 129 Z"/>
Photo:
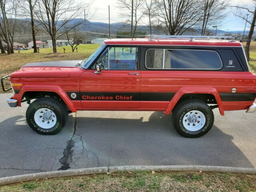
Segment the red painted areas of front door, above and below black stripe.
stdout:
<path fill-rule="evenodd" d="M 100 74 L 95 74 L 94 71 L 86 70 L 80 75 L 80 92 L 140 92 L 140 71 L 102 70 Z M 82 100 L 83 108 L 139 108 L 139 106 L 139 101 Z"/>

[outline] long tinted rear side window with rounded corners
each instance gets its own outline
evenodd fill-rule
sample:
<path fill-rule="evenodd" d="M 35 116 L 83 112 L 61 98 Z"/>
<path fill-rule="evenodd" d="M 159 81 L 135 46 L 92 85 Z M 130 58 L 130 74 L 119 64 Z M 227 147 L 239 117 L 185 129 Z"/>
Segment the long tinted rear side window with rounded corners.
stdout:
<path fill-rule="evenodd" d="M 149 49 L 146 68 L 218 70 L 222 61 L 217 52 L 210 50 Z"/>

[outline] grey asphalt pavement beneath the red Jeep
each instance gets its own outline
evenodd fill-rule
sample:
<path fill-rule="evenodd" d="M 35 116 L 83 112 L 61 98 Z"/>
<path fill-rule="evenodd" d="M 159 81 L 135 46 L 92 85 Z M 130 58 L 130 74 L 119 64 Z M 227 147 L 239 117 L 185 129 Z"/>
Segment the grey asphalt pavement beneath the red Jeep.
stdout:
<path fill-rule="evenodd" d="M 256 167 L 256 113 L 214 109 L 212 130 L 184 138 L 163 112 L 79 111 L 54 136 L 26 124 L 27 105 L 10 108 L 0 94 L 0 177 L 121 165 Z"/>

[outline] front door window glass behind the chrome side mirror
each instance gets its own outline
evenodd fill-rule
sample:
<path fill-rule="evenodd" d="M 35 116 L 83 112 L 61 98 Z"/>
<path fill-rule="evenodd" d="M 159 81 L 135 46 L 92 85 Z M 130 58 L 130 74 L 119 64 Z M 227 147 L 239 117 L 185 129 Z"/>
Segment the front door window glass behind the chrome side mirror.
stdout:
<path fill-rule="evenodd" d="M 96 63 L 103 70 L 138 70 L 138 47 L 109 47 Z"/>

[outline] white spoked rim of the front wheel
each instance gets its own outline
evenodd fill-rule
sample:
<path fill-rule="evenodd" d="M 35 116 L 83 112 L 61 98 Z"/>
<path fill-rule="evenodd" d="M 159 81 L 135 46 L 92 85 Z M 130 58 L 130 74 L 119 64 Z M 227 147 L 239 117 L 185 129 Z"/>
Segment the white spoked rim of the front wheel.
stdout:
<path fill-rule="evenodd" d="M 47 108 L 40 108 L 34 114 L 34 120 L 38 126 L 44 129 L 52 128 L 56 122 L 56 114 Z"/>

